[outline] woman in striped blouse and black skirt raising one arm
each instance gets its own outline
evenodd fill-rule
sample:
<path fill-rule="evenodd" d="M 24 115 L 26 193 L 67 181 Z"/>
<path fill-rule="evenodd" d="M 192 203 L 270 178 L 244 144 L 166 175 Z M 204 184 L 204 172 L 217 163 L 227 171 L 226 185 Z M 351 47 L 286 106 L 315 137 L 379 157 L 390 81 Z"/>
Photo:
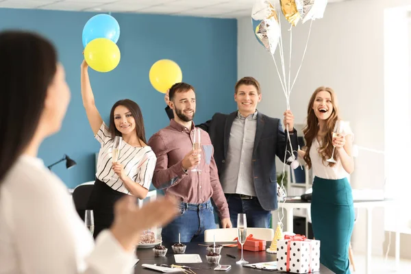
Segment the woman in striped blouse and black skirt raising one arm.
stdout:
<path fill-rule="evenodd" d="M 81 71 L 83 105 L 92 132 L 101 145 L 95 186 L 89 201 L 95 214 L 94 236 L 97 237 L 112 224 L 115 201 L 124 195 L 145 199 L 157 158 L 146 145 L 138 104 L 129 99 L 117 101 L 110 111 L 110 125 L 105 125 L 95 105 L 86 60 L 82 62 Z M 115 136 L 123 138 L 117 159 L 113 147 Z"/>

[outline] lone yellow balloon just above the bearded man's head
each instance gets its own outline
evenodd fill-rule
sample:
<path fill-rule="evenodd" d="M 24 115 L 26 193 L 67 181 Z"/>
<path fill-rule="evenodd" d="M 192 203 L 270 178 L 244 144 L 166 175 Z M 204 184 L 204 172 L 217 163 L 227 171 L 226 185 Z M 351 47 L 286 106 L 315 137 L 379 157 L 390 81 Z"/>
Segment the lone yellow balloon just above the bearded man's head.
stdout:
<path fill-rule="evenodd" d="M 176 62 L 163 59 L 151 66 L 149 78 L 153 88 L 166 93 L 173 84 L 182 82 L 183 73 Z"/>

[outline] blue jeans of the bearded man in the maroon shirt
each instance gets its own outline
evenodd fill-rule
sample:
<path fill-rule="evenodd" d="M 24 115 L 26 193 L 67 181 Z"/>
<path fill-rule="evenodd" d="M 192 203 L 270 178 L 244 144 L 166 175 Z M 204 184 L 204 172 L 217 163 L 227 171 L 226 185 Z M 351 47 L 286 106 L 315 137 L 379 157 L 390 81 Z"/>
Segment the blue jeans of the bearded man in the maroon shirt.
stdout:
<path fill-rule="evenodd" d="M 216 228 L 211 201 L 205 203 L 181 203 L 179 215 L 162 229 L 163 242 L 204 242 L 204 230 Z"/>

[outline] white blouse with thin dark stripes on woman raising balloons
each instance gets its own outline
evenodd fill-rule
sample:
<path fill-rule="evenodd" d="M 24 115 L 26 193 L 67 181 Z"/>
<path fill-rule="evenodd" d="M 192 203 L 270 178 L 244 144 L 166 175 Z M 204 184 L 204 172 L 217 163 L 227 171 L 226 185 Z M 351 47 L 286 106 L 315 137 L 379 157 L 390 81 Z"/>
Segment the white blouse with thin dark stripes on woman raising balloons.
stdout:
<path fill-rule="evenodd" d="M 105 184 L 114 190 L 129 194 L 129 190 L 125 187 L 123 180 L 121 180 L 112 169 L 113 138 L 104 122 L 101 124 L 95 138 L 101 144 L 99 158 L 97 159 L 97 179 L 105 182 Z M 155 162 L 157 162 L 157 158 L 151 147 L 132 147 L 123 141 L 119 162 L 124 165 L 124 171 L 127 177 L 144 188 L 150 188 Z"/>

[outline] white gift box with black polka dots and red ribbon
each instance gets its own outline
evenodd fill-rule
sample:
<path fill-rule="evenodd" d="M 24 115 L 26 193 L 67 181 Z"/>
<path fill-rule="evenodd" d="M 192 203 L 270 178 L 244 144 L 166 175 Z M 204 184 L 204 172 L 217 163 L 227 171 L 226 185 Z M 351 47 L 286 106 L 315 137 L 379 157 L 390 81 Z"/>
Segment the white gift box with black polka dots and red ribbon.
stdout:
<path fill-rule="evenodd" d="M 320 241 L 306 236 L 284 236 L 277 240 L 277 267 L 290 273 L 312 273 L 320 269 Z"/>

